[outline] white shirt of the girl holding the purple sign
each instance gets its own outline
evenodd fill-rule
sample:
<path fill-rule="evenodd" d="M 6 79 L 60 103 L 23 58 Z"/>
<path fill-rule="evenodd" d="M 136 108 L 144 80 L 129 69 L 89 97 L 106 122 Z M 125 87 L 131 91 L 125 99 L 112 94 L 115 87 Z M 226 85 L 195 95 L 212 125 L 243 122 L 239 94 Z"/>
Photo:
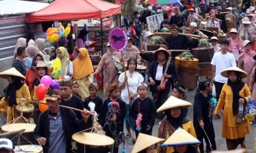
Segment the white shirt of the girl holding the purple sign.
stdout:
<path fill-rule="evenodd" d="M 134 73 L 132 73 L 132 77 L 130 77 L 130 73 L 129 71 L 126 71 L 127 76 L 128 76 L 128 85 L 129 85 L 129 91 L 130 93 L 134 93 L 137 91 L 137 86 L 140 82 L 144 81 L 144 78 L 142 77 L 142 75 L 136 71 L 134 71 Z M 119 75 L 118 78 L 119 82 L 124 82 L 124 72 L 121 73 Z M 125 83 L 124 88 L 122 89 L 122 93 L 121 93 L 121 99 L 126 103 L 129 104 L 129 94 L 128 94 L 128 90 L 127 90 L 127 85 Z"/>

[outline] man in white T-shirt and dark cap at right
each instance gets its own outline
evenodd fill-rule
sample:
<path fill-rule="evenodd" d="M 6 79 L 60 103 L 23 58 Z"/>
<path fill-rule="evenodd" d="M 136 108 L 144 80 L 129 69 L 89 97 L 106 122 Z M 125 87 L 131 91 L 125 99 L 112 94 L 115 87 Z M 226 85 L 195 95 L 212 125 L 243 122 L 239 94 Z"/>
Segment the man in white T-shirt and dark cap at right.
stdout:
<path fill-rule="evenodd" d="M 218 101 L 222 86 L 227 82 L 228 78 L 223 77 L 220 73 L 223 69 L 236 66 L 236 60 L 233 54 L 228 52 L 229 41 L 222 40 L 220 42 L 221 50 L 216 52 L 212 57 L 212 81 L 216 88 L 216 99 Z"/>

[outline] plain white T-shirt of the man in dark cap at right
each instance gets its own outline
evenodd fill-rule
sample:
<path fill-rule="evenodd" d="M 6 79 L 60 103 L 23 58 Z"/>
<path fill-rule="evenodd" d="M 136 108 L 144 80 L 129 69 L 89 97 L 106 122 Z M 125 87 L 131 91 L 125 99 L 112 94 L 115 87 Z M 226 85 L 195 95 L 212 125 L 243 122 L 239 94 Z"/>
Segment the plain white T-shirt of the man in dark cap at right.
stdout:
<path fill-rule="evenodd" d="M 227 54 L 223 55 L 220 52 L 216 52 L 211 61 L 212 65 L 216 66 L 216 71 L 215 71 L 215 78 L 214 80 L 216 82 L 221 82 L 221 83 L 227 83 L 228 78 L 223 77 L 220 73 L 223 71 L 223 69 L 230 68 L 231 66 L 236 66 L 236 60 L 233 54 L 230 52 L 227 52 Z"/>

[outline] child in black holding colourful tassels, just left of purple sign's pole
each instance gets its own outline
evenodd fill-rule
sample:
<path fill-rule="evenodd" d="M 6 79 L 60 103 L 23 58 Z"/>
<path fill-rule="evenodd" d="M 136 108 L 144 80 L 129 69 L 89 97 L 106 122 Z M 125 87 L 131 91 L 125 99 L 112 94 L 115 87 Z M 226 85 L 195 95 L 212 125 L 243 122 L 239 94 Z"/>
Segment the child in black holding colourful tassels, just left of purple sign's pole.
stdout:
<path fill-rule="evenodd" d="M 100 114 L 100 125 L 106 132 L 106 136 L 110 136 L 115 140 L 113 153 L 118 153 L 118 139 L 124 135 L 124 117 L 125 102 L 118 98 L 120 89 L 118 84 L 110 84 L 108 86 L 109 97 L 104 101 Z"/>

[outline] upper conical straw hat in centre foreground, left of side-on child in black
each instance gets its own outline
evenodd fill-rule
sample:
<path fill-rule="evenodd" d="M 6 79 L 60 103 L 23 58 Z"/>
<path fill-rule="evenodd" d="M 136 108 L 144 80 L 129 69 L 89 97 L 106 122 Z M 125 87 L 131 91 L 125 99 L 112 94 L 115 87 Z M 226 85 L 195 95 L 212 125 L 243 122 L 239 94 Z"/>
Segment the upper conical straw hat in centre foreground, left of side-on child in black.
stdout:
<path fill-rule="evenodd" d="M 175 98 L 174 96 L 170 96 L 170 98 L 168 98 L 163 103 L 163 105 L 157 109 L 157 113 L 163 112 L 164 110 L 168 110 L 170 108 L 179 107 L 179 106 L 181 106 L 182 108 L 187 108 L 188 106 L 191 106 L 191 103 L 179 98 Z"/>

